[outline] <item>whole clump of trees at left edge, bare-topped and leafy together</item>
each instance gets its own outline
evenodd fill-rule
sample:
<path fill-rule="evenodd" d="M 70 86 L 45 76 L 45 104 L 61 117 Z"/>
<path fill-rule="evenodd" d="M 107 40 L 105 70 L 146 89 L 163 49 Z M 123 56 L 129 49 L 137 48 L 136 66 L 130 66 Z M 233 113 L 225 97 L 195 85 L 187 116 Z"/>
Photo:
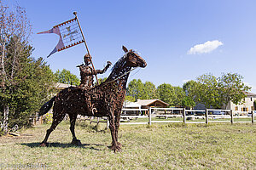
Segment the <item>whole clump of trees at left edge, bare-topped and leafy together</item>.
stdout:
<path fill-rule="evenodd" d="M 30 57 L 31 28 L 23 8 L 12 11 L 0 2 L 0 120 L 4 133 L 11 123 L 29 124 L 52 81 L 53 74 L 43 59 Z"/>

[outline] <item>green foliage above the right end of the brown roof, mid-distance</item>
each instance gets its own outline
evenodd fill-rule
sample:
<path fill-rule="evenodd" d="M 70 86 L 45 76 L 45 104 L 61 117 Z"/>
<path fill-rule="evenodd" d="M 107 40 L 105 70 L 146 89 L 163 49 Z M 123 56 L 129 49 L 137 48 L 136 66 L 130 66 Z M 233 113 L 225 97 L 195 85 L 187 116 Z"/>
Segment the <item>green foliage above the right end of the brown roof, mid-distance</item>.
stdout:
<path fill-rule="evenodd" d="M 160 100 L 171 106 L 181 106 L 185 93 L 183 88 L 173 87 L 171 84 L 163 83 L 157 88 Z"/>

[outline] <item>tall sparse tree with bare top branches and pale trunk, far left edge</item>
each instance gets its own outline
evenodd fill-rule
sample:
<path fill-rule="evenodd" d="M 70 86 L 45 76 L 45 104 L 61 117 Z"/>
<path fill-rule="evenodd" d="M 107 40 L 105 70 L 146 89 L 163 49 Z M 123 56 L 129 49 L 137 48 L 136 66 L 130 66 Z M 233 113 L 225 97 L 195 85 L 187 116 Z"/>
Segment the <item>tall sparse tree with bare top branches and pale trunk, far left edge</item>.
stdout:
<path fill-rule="evenodd" d="M 26 20 L 25 10 L 16 7 L 15 11 L 9 10 L 0 2 L 0 87 L 1 104 L 3 108 L 3 123 L 1 128 L 6 133 L 8 131 L 9 120 L 9 90 L 17 82 L 15 73 L 19 68 L 18 56 L 23 53 L 27 38 L 31 34 L 31 26 Z"/>

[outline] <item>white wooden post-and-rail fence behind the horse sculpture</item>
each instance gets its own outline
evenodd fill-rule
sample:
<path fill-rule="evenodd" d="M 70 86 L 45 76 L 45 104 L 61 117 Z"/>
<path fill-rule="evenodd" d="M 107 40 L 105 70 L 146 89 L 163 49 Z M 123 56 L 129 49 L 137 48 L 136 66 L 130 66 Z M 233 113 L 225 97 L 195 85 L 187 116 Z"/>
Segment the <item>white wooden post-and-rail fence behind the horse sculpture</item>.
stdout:
<path fill-rule="evenodd" d="M 254 124 L 254 116 L 256 116 L 256 111 L 252 111 L 250 116 L 235 116 L 232 110 L 217 110 L 217 109 L 207 109 L 207 110 L 186 110 L 184 108 L 148 108 L 148 109 L 123 109 L 123 111 L 137 111 L 142 113 L 147 113 L 148 115 L 129 115 L 127 112 L 125 115 L 121 115 L 120 118 L 120 125 L 137 125 L 137 124 L 148 124 L 151 125 L 152 123 L 206 123 L 209 122 L 230 122 L 233 123 L 248 123 L 251 122 Z M 159 114 L 163 112 L 165 114 Z M 171 113 L 166 114 L 167 111 L 171 111 Z M 212 111 L 219 111 L 224 112 L 218 115 L 211 114 Z M 177 113 L 178 112 L 178 113 Z M 189 115 L 189 113 L 192 115 Z M 196 115 L 199 114 L 199 115 Z M 210 114 L 209 114 L 210 113 Z M 155 119 L 159 118 L 158 121 Z M 160 120 L 160 118 L 166 118 L 166 120 Z M 168 118 L 176 118 L 177 120 L 168 120 Z M 107 118 L 106 118 L 107 119 Z M 143 119 L 143 122 L 134 122 L 134 119 Z M 195 121 L 200 120 L 200 121 Z M 239 119 L 251 119 L 250 121 L 241 121 Z M 93 122 L 90 120 L 90 122 Z M 97 118 L 97 123 L 101 122 L 99 118 Z M 104 121 L 103 121 L 104 122 Z M 107 127 L 109 125 L 108 121 Z"/>

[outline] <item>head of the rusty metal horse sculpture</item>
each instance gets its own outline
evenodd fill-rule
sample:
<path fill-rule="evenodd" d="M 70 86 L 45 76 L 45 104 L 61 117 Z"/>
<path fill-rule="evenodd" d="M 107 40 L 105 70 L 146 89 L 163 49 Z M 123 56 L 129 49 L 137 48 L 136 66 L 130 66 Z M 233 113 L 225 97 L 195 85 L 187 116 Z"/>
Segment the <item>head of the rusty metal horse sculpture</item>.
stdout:
<path fill-rule="evenodd" d="M 126 54 L 126 66 L 143 68 L 147 66 L 146 61 L 141 56 L 139 56 L 139 54 L 137 54 L 135 51 L 133 51 L 132 49 L 128 51 L 128 49 L 125 48 L 125 46 L 123 46 L 123 50 Z"/>

